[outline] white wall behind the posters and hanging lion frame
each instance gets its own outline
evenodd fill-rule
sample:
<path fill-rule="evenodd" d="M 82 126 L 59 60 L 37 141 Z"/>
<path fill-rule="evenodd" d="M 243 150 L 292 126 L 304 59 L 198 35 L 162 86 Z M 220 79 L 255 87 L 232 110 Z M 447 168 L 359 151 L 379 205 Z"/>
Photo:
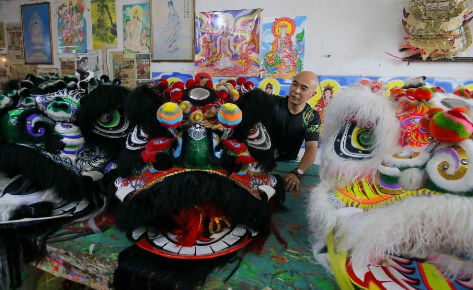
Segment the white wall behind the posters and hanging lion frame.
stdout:
<path fill-rule="evenodd" d="M 0 0 L 0 20 L 20 21 L 20 5 L 28 0 Z M 142 0 L 117 0 L 117 23 L 121 6 Z M 305 70 L 331 75 L 427 75 L 473 78 L 472 63 L 410 63 L 399 55 L 405 32 L 402 8 L 408 0 L 195 0 L 196 11 L 263 8 L 262 17 L 307 15 Z M 90 9 L 90 1 L 87 1 Z M 52 39 L 57 51 L 56 4 L 51 2 Z M 87 11 L 88 48 L 92 49 L 90 10 Z M 121 31 L 121 26 L 118 26 Z M 122 49 L 122 35 L 118 45 Z M 113 50 L 109 50 L 113 51 Z M 473 49 L 470 49 L 473 51 Z M 472 53 L 473 54 L 473 53 Z M 63 56 L 61 56 L 63 57 Z M 59 64 L 55 53 L 54 64 Z M 40 66 L 50 67 L 50 66 Z M 192 72 L 192 63 L 152 63 L 152 72 Z"/>

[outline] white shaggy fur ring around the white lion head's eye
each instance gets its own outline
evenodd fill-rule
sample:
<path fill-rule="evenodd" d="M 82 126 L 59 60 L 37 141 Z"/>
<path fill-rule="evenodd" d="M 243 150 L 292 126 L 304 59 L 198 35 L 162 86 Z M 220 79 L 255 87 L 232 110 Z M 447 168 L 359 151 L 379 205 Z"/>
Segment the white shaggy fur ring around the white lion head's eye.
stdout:
<path fill-rule="evenodd" d="M 398 148 L 399 121 L 394 106 L 382 94 L 373 94 L 366 87 L 339 92 L 325 110 L 321 178 L 348 183 L 356 178 L 374 174 L 383 158 L 396 152 Z M 333 139 L 340 129 L 352 120 L 355 120 L 359 127 L 372 128 L 375 136 L 373 157 L 342 160 L 335 156 Z"/>

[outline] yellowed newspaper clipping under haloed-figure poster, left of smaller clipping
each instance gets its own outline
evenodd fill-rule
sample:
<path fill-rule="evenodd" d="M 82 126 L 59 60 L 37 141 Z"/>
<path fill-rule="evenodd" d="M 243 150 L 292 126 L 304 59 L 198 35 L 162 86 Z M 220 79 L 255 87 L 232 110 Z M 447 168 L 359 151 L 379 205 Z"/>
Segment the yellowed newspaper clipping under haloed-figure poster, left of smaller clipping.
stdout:
<path fill-rule="evenodd" d="M 123 52 L 111 52 L 112 79 L 118 78 L 121 85 L 130 89 L 136 86 L 136 59 L 135 56 L 125 57 Z"/>

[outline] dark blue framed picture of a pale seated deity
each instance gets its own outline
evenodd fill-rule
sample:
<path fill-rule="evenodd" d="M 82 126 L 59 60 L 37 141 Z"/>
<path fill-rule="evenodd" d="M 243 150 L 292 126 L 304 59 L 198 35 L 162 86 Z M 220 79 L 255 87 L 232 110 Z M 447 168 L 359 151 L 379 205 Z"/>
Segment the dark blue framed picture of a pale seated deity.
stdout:
<path fill-rule="evenodd" d="M 49 2 L 21 5 L 25 64 L 53 64 Z"/>

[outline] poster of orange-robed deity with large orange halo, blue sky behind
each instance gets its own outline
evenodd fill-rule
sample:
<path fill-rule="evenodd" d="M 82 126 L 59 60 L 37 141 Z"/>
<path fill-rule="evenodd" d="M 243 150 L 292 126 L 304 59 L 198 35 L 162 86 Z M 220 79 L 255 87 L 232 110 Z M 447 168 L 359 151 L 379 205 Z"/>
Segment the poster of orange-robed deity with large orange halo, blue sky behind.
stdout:
<path fill-rule="evenodd" d="M 264 18 L 261 77 L 292 78 L 302 71 L 306 16 Z"/>

